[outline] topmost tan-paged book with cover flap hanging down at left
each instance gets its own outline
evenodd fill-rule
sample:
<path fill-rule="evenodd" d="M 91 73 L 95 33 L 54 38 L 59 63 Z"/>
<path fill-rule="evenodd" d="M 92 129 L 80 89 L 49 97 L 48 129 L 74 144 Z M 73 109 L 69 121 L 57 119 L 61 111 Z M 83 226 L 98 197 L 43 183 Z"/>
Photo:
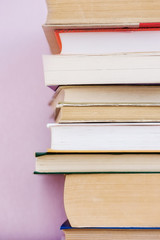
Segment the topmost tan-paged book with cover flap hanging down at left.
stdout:
<path fill-rule="evenodd" d="M 43 29 L 52 53 L 61 52 L 59 31 L 160 27 L 159 0 L 47 0 Z"/>

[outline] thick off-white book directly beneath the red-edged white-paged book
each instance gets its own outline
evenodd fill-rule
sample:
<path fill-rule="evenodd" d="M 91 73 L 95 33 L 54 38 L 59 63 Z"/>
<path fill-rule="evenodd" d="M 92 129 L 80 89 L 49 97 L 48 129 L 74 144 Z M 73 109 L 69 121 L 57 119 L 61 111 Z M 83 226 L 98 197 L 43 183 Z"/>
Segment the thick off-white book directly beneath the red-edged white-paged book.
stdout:
<path fill-rule="evenodd" d="M 160 53 L 45 55 L 45 85 L 160 83 Z"/>

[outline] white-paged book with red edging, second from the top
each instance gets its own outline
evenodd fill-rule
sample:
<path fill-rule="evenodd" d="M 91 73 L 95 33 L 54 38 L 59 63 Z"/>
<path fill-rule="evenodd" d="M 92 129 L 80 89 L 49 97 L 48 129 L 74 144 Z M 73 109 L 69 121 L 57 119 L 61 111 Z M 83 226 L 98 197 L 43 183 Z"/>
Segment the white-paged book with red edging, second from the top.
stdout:
<path fill-rule="evenodd" d="M 160 51 L 160 28 L 57 30 L 61 54 L 109 54 Z M 92 44 L 91 44 L 92 43 Z M 152 44 L 151 44 L 152 43 Z"/>

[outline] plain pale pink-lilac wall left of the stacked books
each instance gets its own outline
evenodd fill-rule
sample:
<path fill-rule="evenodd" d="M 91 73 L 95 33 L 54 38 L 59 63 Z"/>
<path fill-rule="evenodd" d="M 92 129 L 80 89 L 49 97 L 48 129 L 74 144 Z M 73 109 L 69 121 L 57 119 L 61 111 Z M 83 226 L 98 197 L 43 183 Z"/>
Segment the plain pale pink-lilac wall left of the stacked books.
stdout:
<path fill-rule="evenodd" d="M 1 0 L 0 7 L 0 239 L 59 240 L 66 219 L 64 177 L 33 175 L 35 151 L 50 146 L 41 25 L 45 0 Z"/>

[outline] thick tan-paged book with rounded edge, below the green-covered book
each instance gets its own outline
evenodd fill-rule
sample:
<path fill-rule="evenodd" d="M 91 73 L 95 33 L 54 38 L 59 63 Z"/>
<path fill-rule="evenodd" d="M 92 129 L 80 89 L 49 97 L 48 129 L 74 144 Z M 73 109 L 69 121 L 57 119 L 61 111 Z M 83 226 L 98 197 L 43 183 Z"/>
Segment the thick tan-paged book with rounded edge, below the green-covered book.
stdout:
<path fill-rule="evenodd" d="M 160 228 L 160 174 L 69 174 L 64 206 L 72 227 Z"/>

